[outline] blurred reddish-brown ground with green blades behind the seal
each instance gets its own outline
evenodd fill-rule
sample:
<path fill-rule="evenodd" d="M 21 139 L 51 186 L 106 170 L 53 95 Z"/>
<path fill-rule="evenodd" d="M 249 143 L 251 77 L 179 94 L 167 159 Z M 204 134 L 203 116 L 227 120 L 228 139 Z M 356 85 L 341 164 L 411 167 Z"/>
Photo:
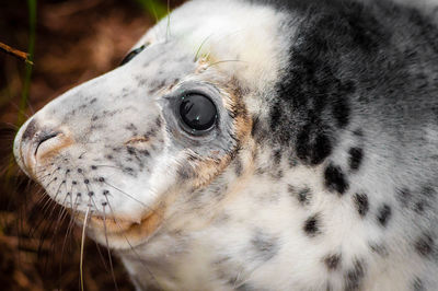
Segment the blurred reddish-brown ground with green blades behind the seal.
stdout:
<path fill-rule="evenodd" d="M 0 51 L 0 290 L 80 290 L 81 230 L 20 172 L 20 125 L 68 89 L 117 67 L 148 27 L 183 0 L 0 1 L 0 43 L 31 53 L 34 66 Z M 134 290 L 107 249 L 87 240 L 85 290 Z"/>

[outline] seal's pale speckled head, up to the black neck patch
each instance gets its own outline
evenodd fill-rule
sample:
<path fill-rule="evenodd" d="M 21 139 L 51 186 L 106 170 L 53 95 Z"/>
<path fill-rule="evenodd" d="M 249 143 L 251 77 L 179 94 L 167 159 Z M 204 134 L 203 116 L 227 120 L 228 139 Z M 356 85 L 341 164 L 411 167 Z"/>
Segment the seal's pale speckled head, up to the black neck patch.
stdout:
<path fill-rule="evenodd" d="M 90 208 L 96 232 L 104 213 L 120 224 L 110 233 L 130 231 L 153 213 L 158 228 L 171 203 L 211 184 L 239 149 L 253 147 L 245 103 L 253 98 L 258 110 L 255 96 L 279 69 L 281 15 L 230 3 L 177 9 L 170 26 L 157 24 L 119 68 L 47 104 L 16 136 L 21 167 L 79 220 Z M 261 22 L 249 26 L 252 19 Z M 260 62 L 260 55 L 268 59 Z M 110 243 L 127 246 L 116 242 Z"/>

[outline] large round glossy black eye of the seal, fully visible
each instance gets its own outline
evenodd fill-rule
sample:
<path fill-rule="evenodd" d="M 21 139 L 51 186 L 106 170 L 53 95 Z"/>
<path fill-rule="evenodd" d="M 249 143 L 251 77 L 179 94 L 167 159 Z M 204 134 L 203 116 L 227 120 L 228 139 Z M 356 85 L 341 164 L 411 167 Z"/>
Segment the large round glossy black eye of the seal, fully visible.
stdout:
<path fill-rule="evenodd" d="M 180 116 L 192 132 L 205 131 L 215 125 L 218 114 L 210 98 L 196 93 L 184 95 L 181 98 Z"/>

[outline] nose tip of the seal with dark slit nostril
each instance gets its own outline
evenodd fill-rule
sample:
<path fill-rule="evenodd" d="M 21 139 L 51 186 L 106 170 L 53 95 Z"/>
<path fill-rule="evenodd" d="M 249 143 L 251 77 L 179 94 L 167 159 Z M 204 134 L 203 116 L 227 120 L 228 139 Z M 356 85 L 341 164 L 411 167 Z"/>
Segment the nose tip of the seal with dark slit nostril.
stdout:
<path fill-rule="evenodd" d="M 60 149 L 71 144 L 66 128 L 53 123 L 39 123 L 33 118 L 20 129 L 15 138 L 14 153 L 20 166 L 27 174 L 35 165 L 56 155 Z"/>

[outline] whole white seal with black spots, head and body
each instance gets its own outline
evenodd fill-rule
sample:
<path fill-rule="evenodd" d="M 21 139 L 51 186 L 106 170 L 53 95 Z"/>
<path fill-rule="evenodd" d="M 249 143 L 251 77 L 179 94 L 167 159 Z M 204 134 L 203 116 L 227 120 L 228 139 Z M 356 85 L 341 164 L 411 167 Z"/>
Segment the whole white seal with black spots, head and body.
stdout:
<path fill-rule="evenodd" d="M 18 163 L 139 290 L 437 290 L 437 7 L 188 2 Z"/>

